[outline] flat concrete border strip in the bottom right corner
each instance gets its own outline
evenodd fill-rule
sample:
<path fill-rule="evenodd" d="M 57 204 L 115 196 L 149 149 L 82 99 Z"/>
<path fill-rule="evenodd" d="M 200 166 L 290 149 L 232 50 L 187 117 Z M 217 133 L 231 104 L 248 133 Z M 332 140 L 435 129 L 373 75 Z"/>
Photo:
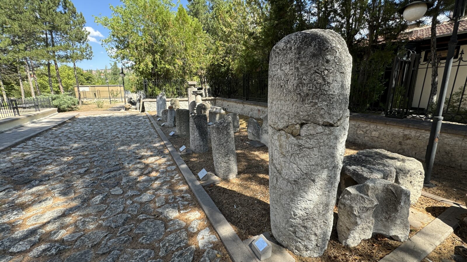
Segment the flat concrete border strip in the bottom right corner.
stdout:
<path fill-rule="evenodd" d="M 459 221 L 467 209 L 448 207 L 445 212 L 418 231 L 380 262 L 420 262 L 438 247 L 459 226 Z"/>

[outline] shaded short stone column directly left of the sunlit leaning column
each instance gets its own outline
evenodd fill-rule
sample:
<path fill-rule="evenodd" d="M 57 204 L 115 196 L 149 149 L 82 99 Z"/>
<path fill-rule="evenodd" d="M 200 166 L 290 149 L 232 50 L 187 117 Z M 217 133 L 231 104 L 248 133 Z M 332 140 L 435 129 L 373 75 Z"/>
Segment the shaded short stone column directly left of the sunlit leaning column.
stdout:
<path fill-rule="evenodd" d="M 190 149 L 195 153 L 209 150 L 206 115 L 190 116 Z"/>

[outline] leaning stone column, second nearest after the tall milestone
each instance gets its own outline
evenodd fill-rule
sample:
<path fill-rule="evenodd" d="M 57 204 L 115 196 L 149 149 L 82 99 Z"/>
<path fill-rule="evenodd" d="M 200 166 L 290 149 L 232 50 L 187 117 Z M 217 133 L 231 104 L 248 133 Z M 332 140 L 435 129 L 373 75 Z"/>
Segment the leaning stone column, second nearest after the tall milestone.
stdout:
<path fill-rule="evenodd" d="M 216 175 L 221 179 L 235 178 L 238 169 L 232 117 L 224 117 L 211 125 L 211 145 Z"/>

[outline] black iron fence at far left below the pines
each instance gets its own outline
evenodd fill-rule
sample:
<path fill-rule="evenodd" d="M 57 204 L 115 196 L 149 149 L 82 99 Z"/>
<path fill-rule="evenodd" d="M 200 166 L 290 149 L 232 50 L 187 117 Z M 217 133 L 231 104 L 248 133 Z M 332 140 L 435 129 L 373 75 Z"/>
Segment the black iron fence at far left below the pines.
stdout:
<path fill-rule="evenodd" d="M 0 98 L 0 118 L 20 116 L 52 107 L 51 97 L 28 97 L 24 99 Z"/>

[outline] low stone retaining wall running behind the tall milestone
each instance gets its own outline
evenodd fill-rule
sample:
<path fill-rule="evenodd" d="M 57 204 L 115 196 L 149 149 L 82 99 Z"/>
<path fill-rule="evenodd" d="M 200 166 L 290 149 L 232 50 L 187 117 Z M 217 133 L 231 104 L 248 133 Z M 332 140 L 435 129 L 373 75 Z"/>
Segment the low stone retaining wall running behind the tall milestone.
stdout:
<path fill-rule="evenodd" d="M 263 102 L 218 97 L 215 105 L 249 117 L 268 114 Z M 351 113 L 347 141 L 423 160 L 430 128 L 430 121 Z M 435 162 L 467 170 L 467 125 L 443 123 L 439 138 Z"/>

